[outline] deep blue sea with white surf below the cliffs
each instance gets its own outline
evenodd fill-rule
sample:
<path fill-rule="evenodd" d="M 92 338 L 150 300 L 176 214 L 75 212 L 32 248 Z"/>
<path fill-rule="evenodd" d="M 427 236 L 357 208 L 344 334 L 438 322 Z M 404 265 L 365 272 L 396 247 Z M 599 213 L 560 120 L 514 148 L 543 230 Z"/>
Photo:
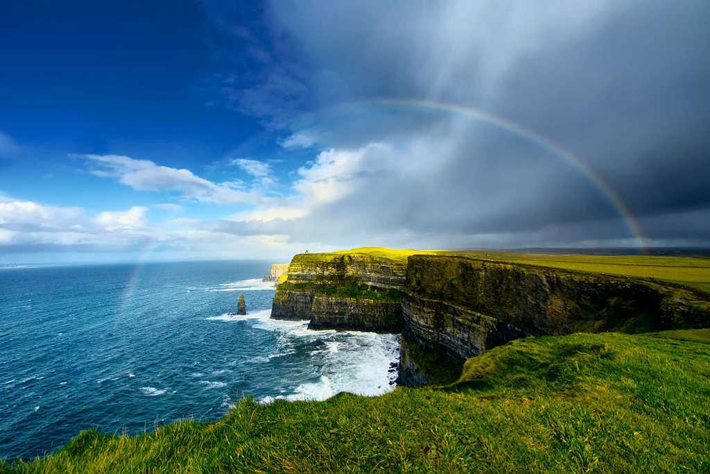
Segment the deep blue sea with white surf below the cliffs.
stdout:
<path fill-rule="evenodd" d="M 395 335 L 273 321 L 267 262 L 0 269 L 0 457 L 82 429 L 217 419 L 242 394 L 324 399 L 391 389 Z M 236 311 L 239 293 L 248 316 Z"/>

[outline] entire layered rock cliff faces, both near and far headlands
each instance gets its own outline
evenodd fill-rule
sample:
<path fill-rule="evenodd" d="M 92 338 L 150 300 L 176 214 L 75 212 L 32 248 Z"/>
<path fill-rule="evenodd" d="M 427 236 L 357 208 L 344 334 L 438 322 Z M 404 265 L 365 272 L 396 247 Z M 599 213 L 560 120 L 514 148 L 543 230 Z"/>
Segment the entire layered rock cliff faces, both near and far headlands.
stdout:
<path fill-rule="evenodd" d="M 446 383 L 463 360 L 527 335 L 710 325 L 706 296 L 672 284 L 449 255 L 299 254 L 272 318 L 402 333 L 399 382 Z"/>

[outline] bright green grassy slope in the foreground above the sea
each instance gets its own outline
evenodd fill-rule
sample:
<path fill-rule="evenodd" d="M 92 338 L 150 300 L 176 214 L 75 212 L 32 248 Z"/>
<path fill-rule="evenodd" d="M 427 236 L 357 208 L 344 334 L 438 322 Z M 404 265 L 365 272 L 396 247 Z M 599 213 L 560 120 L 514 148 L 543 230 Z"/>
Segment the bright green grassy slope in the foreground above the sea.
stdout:
<path fill-rule="evenodd" d="M 441 388 L 85 431 L 11 472 L 708 472 L 710 330 L 526 338 Z"/>

